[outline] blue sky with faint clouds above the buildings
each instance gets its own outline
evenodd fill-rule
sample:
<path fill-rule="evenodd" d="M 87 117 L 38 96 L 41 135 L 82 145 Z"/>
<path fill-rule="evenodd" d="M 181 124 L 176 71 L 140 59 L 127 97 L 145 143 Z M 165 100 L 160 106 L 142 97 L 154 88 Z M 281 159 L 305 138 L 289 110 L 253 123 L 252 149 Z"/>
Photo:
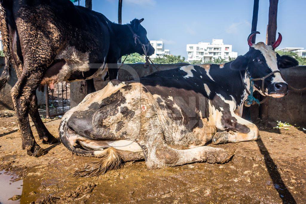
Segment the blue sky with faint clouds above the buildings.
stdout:
<path fill-rule="evenodd" d="M 76 3 L 77 4 L 77 3 Z M 84 6 L 85 0 L 80 0 Z M 278 32 L 283 36 L 279 48 L 306 48 L 305 0 L 279 0 Z M 118 22 L 118 0 L 92 0 L 92 9 Z M 265 42 L 269 0 L 259 0 L 256 42 Z M 163 40 L 171 54 L 187 56 L 186 44 L 223 39 L 238 55 L 248 51 L 253 0 L 123 0 L 122 23 L 144 18 L 148 39 Z"/>

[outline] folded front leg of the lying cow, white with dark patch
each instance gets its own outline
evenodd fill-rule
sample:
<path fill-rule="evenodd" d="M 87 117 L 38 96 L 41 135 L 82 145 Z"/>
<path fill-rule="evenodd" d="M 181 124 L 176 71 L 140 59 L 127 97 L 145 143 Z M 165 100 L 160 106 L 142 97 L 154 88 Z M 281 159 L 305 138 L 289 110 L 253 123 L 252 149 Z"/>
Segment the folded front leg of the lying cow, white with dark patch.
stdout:
<path fill-rule="evenodd" d="M 213 136 L 213 144 L 253 141 L 259 136 L 259 131 L 255 124 L 235 114 L 232 114 L 231 117 L 223 121 L 223 123 L 218 124 L 217 128 L 224 131 L 217 132 Z"/>

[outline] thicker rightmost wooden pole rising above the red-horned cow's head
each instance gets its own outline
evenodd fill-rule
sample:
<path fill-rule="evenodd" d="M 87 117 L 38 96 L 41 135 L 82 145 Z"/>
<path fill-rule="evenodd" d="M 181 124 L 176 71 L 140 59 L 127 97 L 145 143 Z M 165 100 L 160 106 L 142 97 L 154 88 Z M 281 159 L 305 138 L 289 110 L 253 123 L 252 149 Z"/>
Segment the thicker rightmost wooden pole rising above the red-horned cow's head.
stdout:
<path fill-rule="evenodd" d="M 278 0 L 270 0 L 267 45 L 273 45 L 273 43 L 275 43 L 276 40 L 277 5 L 278 5 Z"/>

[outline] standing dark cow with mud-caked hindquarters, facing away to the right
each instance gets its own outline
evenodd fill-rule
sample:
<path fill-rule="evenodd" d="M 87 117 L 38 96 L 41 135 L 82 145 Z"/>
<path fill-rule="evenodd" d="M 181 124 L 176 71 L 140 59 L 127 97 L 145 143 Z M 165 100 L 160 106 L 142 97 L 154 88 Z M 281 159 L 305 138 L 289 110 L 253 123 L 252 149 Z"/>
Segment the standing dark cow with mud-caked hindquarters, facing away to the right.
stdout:
<path fill-rule="evenodd" d="M 18 81 L 11 94 L 22 148 L 35 157 L 46 151 L 35 142 L 28 114 L 43 143 L 57 142 L 39 116 L 35 93 L 39 85 L 48 84 L 52 90 L 57 82 L 88 80 L 108 72 L 110 80 L 116 79 L 121 56 L 154 53 L 140 25 L 144 19 L 126 25 L 112 23 L 103 14 L 69 0 L 2 0 L 0 16 L 6 62 L 0 89 L 12 64 Z"/>

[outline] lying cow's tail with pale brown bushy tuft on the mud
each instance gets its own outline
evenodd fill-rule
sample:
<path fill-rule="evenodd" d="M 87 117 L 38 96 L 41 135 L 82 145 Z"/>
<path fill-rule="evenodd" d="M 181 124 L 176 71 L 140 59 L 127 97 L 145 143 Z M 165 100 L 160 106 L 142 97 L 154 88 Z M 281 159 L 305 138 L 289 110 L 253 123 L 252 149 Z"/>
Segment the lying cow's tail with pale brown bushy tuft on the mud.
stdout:
<path fill-rule="evenodd" d="M 71 114 L 73 113 L 73 109 L 69 110 L 64 117 L 62 118 L 59 133 L 61 142 L 64 146 L 72 151 L 74 154 L 79 156 L 89 156 L 89 157 L 98 157 L 100 161 L 90 162 L 84 166 L 82 169 L 77 169 L 73 176 L 75 177 L 90 177 L 90 176 L 99 176 L 107 171 L 116 170 L 121 168 L 122 166 L 122 159 L 121 156 L 118 154 L 117 150 L 108 147 L 103 150 L 84 150 L 81 148 L 74 147 L 74 144 L 69 142 L 69 137 L 73 136 L 71 130 L 67 126 L 67 121 Z M 77 136 L 77 135 L 74 135 Z"/>

